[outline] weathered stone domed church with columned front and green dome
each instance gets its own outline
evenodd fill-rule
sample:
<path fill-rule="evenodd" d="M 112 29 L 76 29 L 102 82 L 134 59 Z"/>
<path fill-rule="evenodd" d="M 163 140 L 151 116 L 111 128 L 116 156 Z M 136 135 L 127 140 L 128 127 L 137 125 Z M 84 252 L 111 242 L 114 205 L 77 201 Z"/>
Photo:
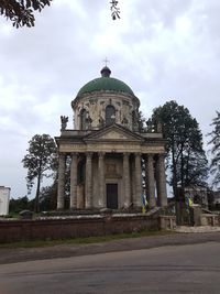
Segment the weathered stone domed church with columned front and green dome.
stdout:
<path fill-rule="evenodd" d="M 61 117 L 57 209 L 64 209 L 66 160 L 70 160 L 70 209 L 128 209 L 167 205 L 165 140 L 161 128 L 139 130 L 140 100 L 105 66 L 101 77 L 72 101 L 74 129 Z M 144 175 L 144 176 L 143 176 Z"/>

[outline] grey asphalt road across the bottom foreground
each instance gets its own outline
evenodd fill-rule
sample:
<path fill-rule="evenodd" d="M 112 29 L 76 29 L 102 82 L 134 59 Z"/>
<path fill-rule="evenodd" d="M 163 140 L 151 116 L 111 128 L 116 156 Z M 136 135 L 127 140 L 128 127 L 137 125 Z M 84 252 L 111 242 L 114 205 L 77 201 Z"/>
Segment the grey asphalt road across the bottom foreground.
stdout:
<path fill-rule="evenodd" d="M 0 265 L 0 294 L 220 293 L 219 242 Z"/>

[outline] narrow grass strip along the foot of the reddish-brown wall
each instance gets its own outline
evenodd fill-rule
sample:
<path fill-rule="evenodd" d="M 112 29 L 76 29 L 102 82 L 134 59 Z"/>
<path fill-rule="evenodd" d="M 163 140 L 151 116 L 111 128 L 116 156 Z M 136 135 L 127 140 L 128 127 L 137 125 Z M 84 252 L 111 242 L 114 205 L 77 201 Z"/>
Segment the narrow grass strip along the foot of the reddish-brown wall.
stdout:
<path fill-rule="evenodd" d="M 152 236 L 165 236 L 175 233 L 173 231 L 141 231 L 141 232 L 124 232 L 118 235 L 107 235 L 100 237 L 84 237 L 84 238 L 69 238 L 69 239 L 58 239 L 58 240 L 35 240 L 35 241 L 19 241 L 11 243 L 0 243 L 0 249 L 2 248 L 43 248 L 43 247 L 54 247 L 58 244 L 90 244 L 90 243 L 102 243 L 112 240 L 121 240 L 129 238 L 141 238 L 141 237 L 152 237 Z"/>

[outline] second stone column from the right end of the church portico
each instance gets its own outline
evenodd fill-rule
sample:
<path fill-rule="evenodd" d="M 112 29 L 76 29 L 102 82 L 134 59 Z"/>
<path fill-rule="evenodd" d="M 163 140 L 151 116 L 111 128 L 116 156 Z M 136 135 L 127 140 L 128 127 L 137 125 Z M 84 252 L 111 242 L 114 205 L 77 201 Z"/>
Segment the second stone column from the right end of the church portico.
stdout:
<path fill-rule="evenodd" d="M 154 183 L 154 157 L 153 154 L 147 154 L 145 161 L 145 174 L 146 174 L 146 197 L 150 208 L 156 206 L 155 199 L 155 183 Z"/>

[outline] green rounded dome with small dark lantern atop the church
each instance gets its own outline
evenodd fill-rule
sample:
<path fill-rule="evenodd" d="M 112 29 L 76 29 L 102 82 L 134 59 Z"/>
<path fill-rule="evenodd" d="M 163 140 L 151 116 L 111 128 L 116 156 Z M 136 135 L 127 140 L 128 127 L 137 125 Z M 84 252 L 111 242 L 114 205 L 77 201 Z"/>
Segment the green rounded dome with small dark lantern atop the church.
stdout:
<path fill-rule="evenodd" d="M 125 92 L 130 95 L 134 95 L 132 89 L 122 80 L 110 77 L 111 70 L 106 66 L 101 70 L 102 77 L 95 78 L 91 81 L 87 83 L 84 87 L 80 88 L 77 96 L 81 96 L 86 92 L 91 91 L 117 91 L 117 92 Z"/>

